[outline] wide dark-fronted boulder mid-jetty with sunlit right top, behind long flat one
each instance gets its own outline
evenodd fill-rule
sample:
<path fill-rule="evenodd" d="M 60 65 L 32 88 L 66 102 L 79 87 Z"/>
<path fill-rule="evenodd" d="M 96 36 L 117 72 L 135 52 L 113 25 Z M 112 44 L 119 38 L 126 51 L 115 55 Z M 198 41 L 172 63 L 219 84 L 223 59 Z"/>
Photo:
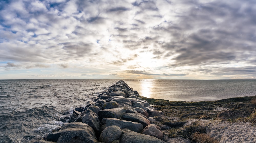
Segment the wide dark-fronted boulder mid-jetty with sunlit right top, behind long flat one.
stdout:
<path fill-rule="evenodd" d="M 114 109 L 104 109 L 98 112 L 98 116 L 102 118 L 117 118 L 121 117 L 126 113 L 126 109 L 114 108 Z"/>

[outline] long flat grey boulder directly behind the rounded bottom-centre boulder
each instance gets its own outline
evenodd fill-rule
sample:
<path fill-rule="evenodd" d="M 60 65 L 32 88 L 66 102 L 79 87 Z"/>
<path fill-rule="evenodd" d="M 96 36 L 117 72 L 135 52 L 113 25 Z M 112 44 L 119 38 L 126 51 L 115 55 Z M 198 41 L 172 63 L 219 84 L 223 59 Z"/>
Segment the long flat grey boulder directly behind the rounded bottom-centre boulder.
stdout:
<path fill-rule="evenodd" d="M 125 121 L 115 118 L 103 118 L 102 124 L 105 124 L 106 126 L 119 126 L 121 129 L 127 128 L 131 131 L 140 133 L 143 130 L 143 125 L 141 123 L 135 123 L 132 121 Z"/>

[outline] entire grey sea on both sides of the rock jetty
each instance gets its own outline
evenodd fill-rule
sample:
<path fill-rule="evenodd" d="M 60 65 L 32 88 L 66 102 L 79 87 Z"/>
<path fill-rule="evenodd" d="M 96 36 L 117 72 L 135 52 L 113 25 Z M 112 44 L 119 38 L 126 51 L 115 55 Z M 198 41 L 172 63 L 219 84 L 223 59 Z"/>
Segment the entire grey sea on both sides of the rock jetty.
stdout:
<path fill-rule="evenodd" d="M 0 142 L 28 142 L 67 122 L 75 107 L 118 79 L 0 80 Z M 256 80 L 124 80 L 140 96 L 169 101 L 213 101 L 256 95 Z"/>

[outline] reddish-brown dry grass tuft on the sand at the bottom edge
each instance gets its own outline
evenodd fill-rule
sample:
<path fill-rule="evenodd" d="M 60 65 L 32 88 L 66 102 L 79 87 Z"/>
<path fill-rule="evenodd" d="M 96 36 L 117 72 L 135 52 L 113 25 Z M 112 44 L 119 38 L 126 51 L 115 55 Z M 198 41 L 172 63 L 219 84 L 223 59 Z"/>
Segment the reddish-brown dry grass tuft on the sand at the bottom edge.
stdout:
<path fill-rule="evenodd" d="M 191 141 L 196 143 L 218 143 L 218 141 L 207 134 L 196 132 L 191 136 Z"/>

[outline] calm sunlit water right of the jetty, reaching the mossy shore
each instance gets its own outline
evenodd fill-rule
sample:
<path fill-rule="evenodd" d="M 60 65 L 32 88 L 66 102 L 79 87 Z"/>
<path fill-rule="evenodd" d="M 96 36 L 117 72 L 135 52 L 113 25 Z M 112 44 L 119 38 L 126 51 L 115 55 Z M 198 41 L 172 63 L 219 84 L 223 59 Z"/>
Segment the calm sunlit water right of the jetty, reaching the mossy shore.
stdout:
<path fill-rule="evenodd" d="M 215 101 L 255 96 L 256 80 L 125 80 L 140 96 L 169 101 Z"/>

